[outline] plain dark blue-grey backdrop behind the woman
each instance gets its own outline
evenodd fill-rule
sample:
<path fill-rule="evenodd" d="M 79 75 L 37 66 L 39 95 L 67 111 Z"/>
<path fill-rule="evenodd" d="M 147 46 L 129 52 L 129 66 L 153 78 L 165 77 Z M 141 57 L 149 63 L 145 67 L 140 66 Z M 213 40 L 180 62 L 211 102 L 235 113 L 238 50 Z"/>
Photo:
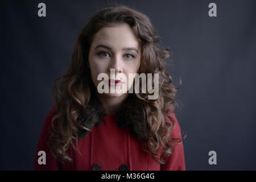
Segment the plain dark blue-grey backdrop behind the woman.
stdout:
<path fill-rule="evenodd" d="M 47 6 L 39 18 L 38 3 Z M 162 44 L 187 133 L 188 170 L 256 169 L 256 1 L 119 1 L 149 16 Z M 210 2 L 217 17 L 208 16 Z M 30 170 L 53 106 L 53 80 L 71 60 L 75 39 L 106 1 L 1 1 L 0 169 Z M 217 152 L 217 165 L 208 152 Z"/>

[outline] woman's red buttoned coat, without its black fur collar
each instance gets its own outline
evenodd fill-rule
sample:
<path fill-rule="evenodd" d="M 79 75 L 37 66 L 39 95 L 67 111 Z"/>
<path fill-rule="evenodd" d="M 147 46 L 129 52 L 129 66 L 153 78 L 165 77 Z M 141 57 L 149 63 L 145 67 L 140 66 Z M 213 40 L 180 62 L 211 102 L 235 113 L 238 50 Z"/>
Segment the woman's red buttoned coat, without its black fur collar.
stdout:
<path fill-rule="evenodd" d="M 38 147 L 35 154 L 35 170 L 131 170 L 131 171 L 177 171 L 185 170 L 183 143 L 174 146 L 173 154 L 168 157 L 166 164 L 155 162 L 152 156 L 142 150 L 141 142 L 129 133 L 129 130 L 121 129 L 116 124 L 115 115 L 105 115 L 100 126 L 94 126 L 92 132 L 81 140 L 78 140 L 78 148 L 81 154 L 72 147 L 68 155 L 73 156 L 73 164 L 59 165 L 53 158 L 47 146 L 48 133 L 52 119 L 52 107 L 47 115 L 40 134 Z M 175 129 L 172 137 L 181 137 L 180 126 L 175 114 L 170 112 L 175 120 Z M 170 119 L 167 118 L 170 122 Z M 46 152 L 46 164 L 38 164 L 38 152 Z"/>

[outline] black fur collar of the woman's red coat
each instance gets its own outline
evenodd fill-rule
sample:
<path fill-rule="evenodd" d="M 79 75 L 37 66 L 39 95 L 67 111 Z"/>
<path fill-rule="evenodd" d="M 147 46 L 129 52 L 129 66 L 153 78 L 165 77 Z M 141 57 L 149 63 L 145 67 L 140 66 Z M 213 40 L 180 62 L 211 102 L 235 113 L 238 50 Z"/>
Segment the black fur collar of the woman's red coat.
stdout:
<path fill-rule="evenodd" d="M 145 131 L 147 130 L 146 116 L 144 115 L 144 105 L 135 94 L 129 93 L 125 102 L 121 105 L 117 112 L 117 125 L 120 128 L 129 127 L 131 133 L 136 135 L 139 139 L 146 139 L 148 136 Z M 81 113 L 77 122 L 80 125 L 92 130 L 94 126 L 100 126 L 104 116 L 105 110 L 95 94 L 92 94 L 86 109 Z M 79 138 L 84 138 L 89 131 L 80 130 Z"/>

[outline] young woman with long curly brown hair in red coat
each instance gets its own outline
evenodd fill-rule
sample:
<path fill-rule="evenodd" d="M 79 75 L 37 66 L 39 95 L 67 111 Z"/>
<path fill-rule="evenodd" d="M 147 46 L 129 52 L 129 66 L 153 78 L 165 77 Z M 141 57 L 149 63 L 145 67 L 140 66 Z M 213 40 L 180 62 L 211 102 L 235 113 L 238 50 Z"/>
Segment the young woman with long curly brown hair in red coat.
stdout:
<path fill-rule="evenodd" d="M 127 6 L 106 7 L 90 19 L 67 73 L 54 82 L 55 106 L 44 121 L 36 170 L 185 170 L 176 87 L 164 69 L 170 51 L 159 41 L 150 19 Z M 127 78 L 158 73 L 158 97 L 128 92 L 135 77 L 107 80 L 106 90 L 123 85 L 127 92 L 100 93 L 98 76 L 111 78 L 113 71 Z"/>

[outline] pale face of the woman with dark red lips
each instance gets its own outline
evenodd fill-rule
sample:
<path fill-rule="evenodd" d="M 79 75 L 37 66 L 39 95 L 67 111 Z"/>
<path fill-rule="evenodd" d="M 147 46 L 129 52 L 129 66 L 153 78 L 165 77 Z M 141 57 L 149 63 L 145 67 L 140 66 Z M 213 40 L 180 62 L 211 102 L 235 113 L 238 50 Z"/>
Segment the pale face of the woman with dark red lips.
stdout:
<path fill-rule="evenodd" d="M 100 73 L 106 73 L 109 79 L 110 69 L 114 69 L 112 73 L 115 73 L 114 80 L 110 82 L 107 80 L 109 92 L 104 93 L 105 96 L 122 96 L 124 92 L 110 93 L 111 88 L 117 90 L 122 84 L 126 85 L 125 92 L 127 92 L 133 86 L 134 81 L 134 79 L 128 81 L 129 73 L 137 73 L 140 64 L 141 46 L 128 24 L 104 27 L 94 35 L 89 51 L 89 68 L 96 88 L 102 82 L 102 80 L 97 80 Z M 127 80 L 117 78 L 118 73 L 124 74 Z M 118 80 L 121 81 L 117 84 Z"/>

